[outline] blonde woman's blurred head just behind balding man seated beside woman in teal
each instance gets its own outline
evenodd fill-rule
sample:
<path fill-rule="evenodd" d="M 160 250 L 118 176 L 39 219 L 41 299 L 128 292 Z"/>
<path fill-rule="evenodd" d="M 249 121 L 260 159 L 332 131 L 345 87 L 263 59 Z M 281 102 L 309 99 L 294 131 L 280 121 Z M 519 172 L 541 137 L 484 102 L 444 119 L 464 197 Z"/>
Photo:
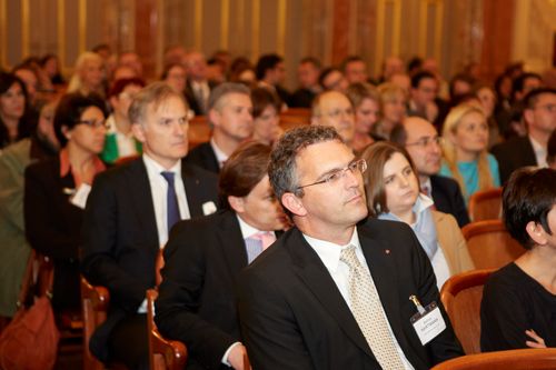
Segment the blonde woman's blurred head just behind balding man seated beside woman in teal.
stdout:
<path fill-rule="evenodd" d="M 386 82 L 377 88 L 380 121 L 373 127 L 373 136 L 389 140 L 391 130 L 406 117 L 407 93 L 404 88 Z"/>

